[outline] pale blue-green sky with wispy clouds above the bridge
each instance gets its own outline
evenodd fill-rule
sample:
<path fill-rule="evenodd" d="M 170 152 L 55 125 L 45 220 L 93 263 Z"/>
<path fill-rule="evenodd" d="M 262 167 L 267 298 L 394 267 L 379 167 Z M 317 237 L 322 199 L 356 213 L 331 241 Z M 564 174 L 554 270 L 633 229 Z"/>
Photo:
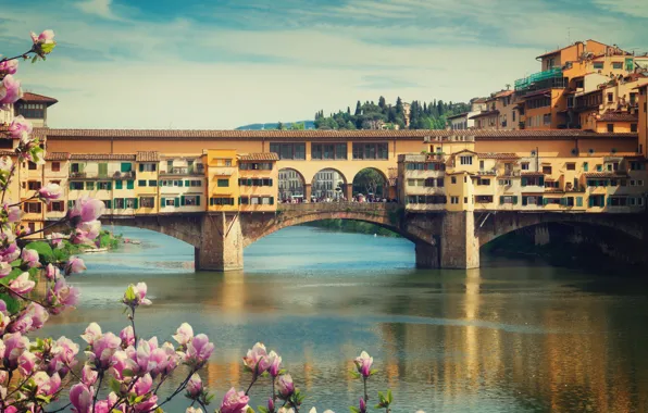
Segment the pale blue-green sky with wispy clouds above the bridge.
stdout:
<path fill-rule="evenodd" d="M 7 4 L 7 2 L 9 4 Z M 3 0 L 0 53 L 51 28 L 23 89 L 48 126 L 232 129 L 358 100 L 468 101 L 596 39 L 648 51 L 646 0 Z"/>

